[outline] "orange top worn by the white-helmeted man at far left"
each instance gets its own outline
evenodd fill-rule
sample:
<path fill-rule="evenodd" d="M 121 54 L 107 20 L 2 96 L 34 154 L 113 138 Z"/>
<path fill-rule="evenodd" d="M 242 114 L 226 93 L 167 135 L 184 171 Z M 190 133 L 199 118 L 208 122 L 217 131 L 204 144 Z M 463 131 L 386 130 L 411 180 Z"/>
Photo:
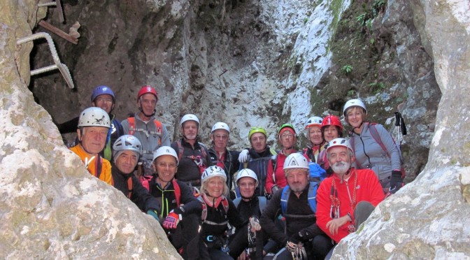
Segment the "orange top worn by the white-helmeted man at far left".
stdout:
<path fill-rule="evenodd" d="M 87 152 L 83 150 L 82 145 L 75 145 L 74 147 L 71 147 L 70 150 L 76 153 L 78 157 L 82 159 L 84 164 L 85 162 L 88 162 L 88 165 L 85 166 L 91 175 L 94 175 L 95 177 L 99 178 L 99 180 L 108 183 L 108 185 L 113 185 L 111 163 L 108 160 L 100 157 L 99 154 L 95 154 L 94 158 L 91 159 L 93 156 L 87 154 Z M 101 161 L 101 165 L 98 165 L 99 161 Z M 98 172 L 99 168 L 101 168 L 101 171 Z"/>

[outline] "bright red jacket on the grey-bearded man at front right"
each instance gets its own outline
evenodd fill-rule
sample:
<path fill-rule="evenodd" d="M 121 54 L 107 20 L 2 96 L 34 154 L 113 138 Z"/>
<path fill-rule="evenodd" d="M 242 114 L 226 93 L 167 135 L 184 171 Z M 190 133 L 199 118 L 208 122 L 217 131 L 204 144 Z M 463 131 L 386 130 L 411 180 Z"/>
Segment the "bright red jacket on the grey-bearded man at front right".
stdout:
<path fill-rule="evenodd" d="M 349 212 L 353 222 L 354 209 L 351 208 L 350 205 L 348 189 L 352 197 L 354 191 L 353 186 L 355 174 L 357 174 L 355 205 L 357 205 L 359 201 L 369 201 L 374 207 L 376 207 L 376 205 L 378 205 L 380 201 L 383 201 L 385 197 L 383 194 L 382 185 L 380 185 L 380 182 L 378 182 L 376 173 L 374 173 L 370 169 L 356 170 L 355 168 L 351 168 L 351 171 L 355 171 L 355 173 L 352 173 L 351 177 L 347 182 L 343 181 L 343 183 L 341 183 L 341 180 L 338 178 L 338 176 L 334 174 L 332 175 L 332 177 L 323 180 L 317 192 L 317 224 L 320 229 L 322 229 L 322 231 L 325 231 L 325 233 L 327 233 L 330 238 L 335 240 L 336 243 L 339 243 L 341 239 L 348 236 L 349 222 L 341 226 L 338 229 L 338 233 L 336 233 L 336 235 L 333 235 L 329 232 L 329 229 L 327 229 L 327 223 L 332 220 L 332 217 L 330 217 L 330 210 L 332 208 L 332 200 L 330 198 L 330 194 L 332 192 L 333 179 L 335 179 L 336 188 L 338 189 L 338 198 L 339 201 L 341 201 L 341 205 L 339 208 L 339 217 L 348 215 Z"/>

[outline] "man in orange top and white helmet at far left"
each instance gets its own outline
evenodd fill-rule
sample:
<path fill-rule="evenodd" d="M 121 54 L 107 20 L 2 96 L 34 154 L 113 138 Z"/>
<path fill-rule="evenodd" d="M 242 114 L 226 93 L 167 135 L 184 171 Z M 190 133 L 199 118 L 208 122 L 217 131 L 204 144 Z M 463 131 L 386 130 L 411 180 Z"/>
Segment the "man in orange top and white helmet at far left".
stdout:
<path fill-rule="evenodd" d="M 111 127 L 108 113 L 101 108 L 87 108 L 78 117 L 78 144 L 70 150 L 85 163 L 88 171 L 108 185 L 113 185 L 111 164 L 99 155 L 106 144 L 108 130 Z"/>

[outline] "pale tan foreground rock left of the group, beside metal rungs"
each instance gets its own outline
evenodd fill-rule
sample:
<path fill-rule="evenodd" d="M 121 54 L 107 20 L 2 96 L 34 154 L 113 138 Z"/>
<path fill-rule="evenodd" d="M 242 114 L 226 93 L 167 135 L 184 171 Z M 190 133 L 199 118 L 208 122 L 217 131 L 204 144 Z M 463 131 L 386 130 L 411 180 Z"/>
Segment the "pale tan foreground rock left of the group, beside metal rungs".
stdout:
<path fill-rule="evenodd" d="M 31 35 L 45 8 L 0 3 L 0 257 L 180 259 L 159 224 L 84 168 L 29 92 Z"/>

